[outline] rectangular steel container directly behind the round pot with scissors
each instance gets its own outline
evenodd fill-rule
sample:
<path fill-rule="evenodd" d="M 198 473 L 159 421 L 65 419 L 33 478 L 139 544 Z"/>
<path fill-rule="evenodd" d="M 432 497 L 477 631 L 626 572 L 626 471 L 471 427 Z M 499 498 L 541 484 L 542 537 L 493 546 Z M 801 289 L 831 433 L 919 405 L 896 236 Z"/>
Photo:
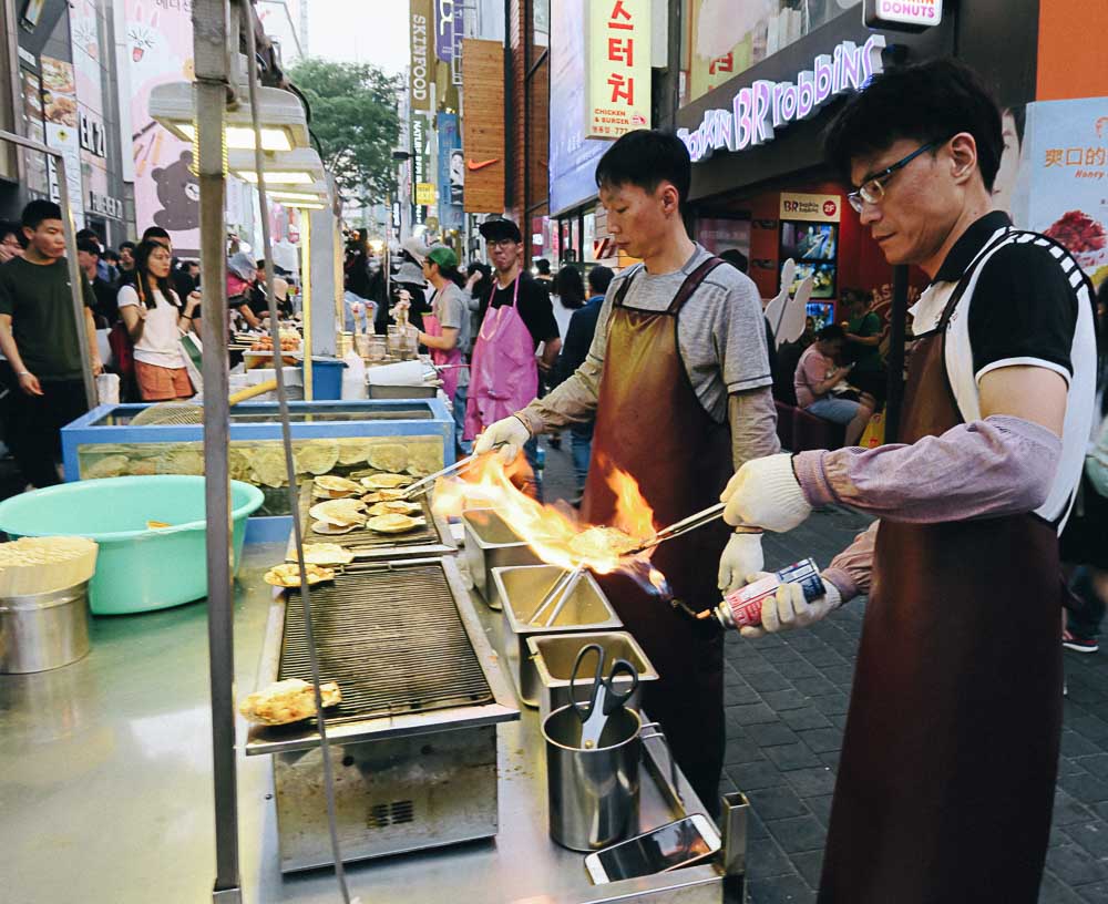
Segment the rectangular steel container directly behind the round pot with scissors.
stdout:
<path fill-rule="evenodd" d="M 635 667 L 638 671 L 638 689 L 628 698 L 625 706 L 630 709 L 642 709 L 643 682 L 657 681 L 658 672 L 646 658 L 643 648 L 627 631 L 547 635 L 527 638 L 527 649 L 531 651 L 535 675 L 538 677 L 540 719 L 545 719 L 555 709 L 561 709 L 570 702 L 570 678 L 573 676 L 573 666 L 577 661 L 581 648 L 588 644 L 599 644 L 609 662 L 613 659 L 626 659 Z M 619 676 L 616 682 L 626 686 L 630 679 Z M 579 675 L 577 700 L 584 702 L 592 689 L 592 674 Z"/>

